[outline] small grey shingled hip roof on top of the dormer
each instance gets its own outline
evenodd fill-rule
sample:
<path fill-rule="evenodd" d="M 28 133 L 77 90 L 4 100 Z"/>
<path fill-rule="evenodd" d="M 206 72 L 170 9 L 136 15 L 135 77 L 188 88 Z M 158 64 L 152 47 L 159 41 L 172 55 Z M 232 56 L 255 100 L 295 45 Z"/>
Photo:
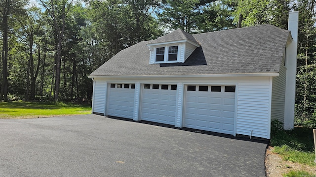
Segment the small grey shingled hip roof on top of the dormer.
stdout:
<path fill-rule="evenodd" d="M 164 36 L 159 37 L 158 39 L 149 41 L 147 44 L 157 44 L 161 42 L 170 42 L 170 41 L 178 41 L 178 40 L 190 40 L 191 42 L 198 44 L 197 40 L 191 34 L 179 28 Z"/>

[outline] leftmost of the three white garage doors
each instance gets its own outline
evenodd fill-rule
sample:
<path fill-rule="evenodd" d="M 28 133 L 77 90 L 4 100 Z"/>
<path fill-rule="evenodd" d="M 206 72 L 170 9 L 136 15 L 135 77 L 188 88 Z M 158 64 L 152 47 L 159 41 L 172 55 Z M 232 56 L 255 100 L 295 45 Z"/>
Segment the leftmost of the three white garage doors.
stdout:
<path fill-rule="evenodd" d="M 110 84 L 108 92 L 108 115 L 133 118 L 135 84 Z"/>

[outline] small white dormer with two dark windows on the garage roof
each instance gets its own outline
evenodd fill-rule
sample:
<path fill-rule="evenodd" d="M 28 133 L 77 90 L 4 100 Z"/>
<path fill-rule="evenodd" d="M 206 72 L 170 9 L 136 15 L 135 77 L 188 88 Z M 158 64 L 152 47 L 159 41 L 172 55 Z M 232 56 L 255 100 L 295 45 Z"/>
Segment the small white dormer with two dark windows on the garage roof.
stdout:
<path fill-rule="evenodd" d="M 147 46 L 150 50 L 150 64 L 183 63 L 197 47 L 200 47 L 191 34 L 181 29 L 150 41 Z"/>

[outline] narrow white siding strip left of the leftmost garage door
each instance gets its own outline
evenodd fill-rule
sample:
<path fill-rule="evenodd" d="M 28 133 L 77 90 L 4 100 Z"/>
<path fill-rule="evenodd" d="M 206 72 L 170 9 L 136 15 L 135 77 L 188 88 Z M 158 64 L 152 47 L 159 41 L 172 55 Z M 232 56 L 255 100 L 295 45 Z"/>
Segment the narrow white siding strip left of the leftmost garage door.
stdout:
<path fill-rule="evenodd" d="M 96 80 L 93 92 L 93 113 L 104 114 L 107 82 Z"/>

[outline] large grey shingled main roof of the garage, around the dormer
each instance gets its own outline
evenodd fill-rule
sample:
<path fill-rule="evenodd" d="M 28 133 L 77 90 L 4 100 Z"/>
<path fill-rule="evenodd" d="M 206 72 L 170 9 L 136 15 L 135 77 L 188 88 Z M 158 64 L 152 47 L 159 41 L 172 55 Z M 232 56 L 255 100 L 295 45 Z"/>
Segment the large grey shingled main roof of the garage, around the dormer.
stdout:
<path fill-rule="evenodd" d="M 168 64 L 149 64 L 146 44 L 152 41 L 143 41 L 120 51 L 90 76 L 278 73 L 289 34 L 272 25 L 193 34 L 201 47 L 184 63 Z"/>

